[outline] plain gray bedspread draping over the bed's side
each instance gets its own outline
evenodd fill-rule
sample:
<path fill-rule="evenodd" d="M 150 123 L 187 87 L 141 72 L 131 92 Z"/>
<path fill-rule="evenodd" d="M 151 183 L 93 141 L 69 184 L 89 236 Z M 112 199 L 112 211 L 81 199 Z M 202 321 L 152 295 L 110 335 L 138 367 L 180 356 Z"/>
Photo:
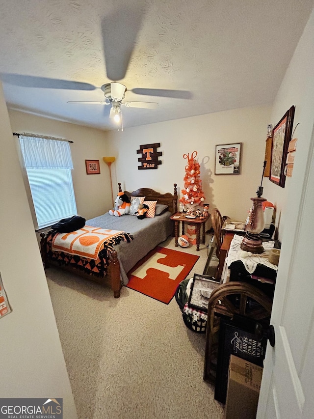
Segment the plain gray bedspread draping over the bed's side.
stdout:
<path fill-rule="evenodd" d="M 126 285 L 129 282 L 127 273 L 136 262 L 159 243 L 166 240 L 172 233 L 173 227 L 170 217 L 171 213 L 169 211 L 155 218 L 144 218 L 143 220 L 138 220 L 136 216 L 129 214 L 114 217 L 106 213 L 87 220 L 86 225 L 122 230 L 132 234 L 134 240 L 131 243 L 122 242 L 114 247 L 120 262 L 121 281 Z"/>

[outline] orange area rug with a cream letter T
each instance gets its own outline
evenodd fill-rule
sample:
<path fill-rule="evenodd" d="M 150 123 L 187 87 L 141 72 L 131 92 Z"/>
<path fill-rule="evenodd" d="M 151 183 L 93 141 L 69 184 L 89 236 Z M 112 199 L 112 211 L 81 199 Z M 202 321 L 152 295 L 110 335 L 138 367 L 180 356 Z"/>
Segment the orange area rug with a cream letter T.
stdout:
<path fill-rule="evenodd" d="M 128 273 L 128 288 L 164 304 L 173 299 L 181 281 L 187 277 L 199 256 L 157 246 Z"/>

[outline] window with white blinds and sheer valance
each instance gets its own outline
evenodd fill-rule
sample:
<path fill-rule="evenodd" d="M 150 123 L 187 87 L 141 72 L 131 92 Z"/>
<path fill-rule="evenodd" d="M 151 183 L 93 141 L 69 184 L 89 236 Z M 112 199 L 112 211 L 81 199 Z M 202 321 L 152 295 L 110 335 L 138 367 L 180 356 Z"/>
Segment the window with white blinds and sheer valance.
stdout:
<path fill-rule="evenodd" d="M 19 136 L 39 228 L 77 215 L 68 141 Z"/>

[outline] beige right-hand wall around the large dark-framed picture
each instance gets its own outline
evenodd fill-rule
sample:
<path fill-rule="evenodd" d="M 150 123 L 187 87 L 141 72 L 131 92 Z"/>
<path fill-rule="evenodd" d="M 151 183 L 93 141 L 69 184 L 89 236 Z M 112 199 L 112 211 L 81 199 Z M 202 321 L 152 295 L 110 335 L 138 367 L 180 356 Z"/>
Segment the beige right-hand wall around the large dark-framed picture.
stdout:
<path fill-rule="evenodd" d="M 281 188 L 268 179 L 265 182 L 264 193 L 276 204 L 276 225 L 279 228 L 279 238 L 284 239 L 284 233 L 296 222 L 299 199 L 302 191 L 305 162 L 309 153 L 314 123 L 314 12 L 307 24 L 299 45 L 291 59 L 288 70 L 276 96 L 271 123 L 276 123 L 294 105 L 293 129 L 294 138 L 298 138 L 292 177 L 286 178 L 285 188 Z M 293 191 L 293 192 L 291 192 Z M 289 239 L 290 240 L 290 239 Z"/>

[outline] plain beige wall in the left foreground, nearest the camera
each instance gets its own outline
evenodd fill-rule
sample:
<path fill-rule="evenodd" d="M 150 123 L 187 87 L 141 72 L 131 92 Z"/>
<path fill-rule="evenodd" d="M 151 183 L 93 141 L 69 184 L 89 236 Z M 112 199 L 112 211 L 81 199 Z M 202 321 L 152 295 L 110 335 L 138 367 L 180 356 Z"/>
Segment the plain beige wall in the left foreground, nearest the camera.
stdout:
<path fill-rule="evenodd" d="M 1 85 L 0 116 L 0 272 L 12 307 L 0 318 L 1 397 L 62 397 L 64 418 L 76 418 Z"/>

